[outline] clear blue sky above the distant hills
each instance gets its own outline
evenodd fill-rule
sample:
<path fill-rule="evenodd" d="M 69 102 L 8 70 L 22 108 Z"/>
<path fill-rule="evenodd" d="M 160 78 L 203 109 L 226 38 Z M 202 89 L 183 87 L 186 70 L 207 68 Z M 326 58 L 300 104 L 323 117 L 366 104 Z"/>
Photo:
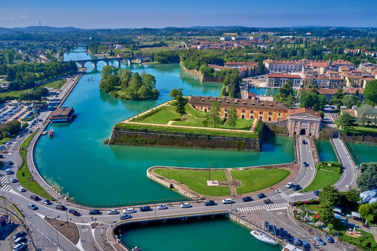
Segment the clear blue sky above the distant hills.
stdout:
<path fill-rule="evenodd" d="M 376 0 L 3 0 L 0 27 L 377 27 L 376 10 Z"/>

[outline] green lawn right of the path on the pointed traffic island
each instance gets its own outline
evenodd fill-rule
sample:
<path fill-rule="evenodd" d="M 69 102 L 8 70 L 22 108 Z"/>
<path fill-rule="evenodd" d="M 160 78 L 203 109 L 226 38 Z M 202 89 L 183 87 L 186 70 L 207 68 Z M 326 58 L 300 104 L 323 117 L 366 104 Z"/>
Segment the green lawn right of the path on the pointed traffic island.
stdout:
<path fill-rule="evenodd" d="M 233 180 L 242 185 L 236 188 L 238 194 L 259 191 L 273 186 L 288 177 L 290 172 L 285 169 L 246 169 L 230 171 Z"/>

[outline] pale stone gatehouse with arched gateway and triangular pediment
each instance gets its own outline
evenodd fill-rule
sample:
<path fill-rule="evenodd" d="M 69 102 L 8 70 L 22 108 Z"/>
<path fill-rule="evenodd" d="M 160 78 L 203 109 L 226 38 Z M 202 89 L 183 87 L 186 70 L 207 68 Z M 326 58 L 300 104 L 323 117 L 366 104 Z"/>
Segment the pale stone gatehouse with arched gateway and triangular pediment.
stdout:
<path fill-rule="evenodd" d="M 321 115 L 306 107 L 288 110 L 288 134 L 318 138 L 321 130 Z"/>

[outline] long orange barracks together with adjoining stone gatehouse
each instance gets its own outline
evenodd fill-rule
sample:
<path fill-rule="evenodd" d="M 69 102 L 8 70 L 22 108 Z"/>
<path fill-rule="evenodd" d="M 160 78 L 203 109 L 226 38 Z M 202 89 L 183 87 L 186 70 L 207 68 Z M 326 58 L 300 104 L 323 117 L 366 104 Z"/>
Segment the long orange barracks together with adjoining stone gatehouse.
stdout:
<path fill-rule="evenodd" d="M 321 116 L 308 108 L 289 109 L 276 101 L 241 99 L 229 97 L 190 96 L 188 103 L 196 110 L 207 112 L 211 104 L 220 104 L 220 116 L 227 117 L 227 109 L 234 103 L 238 118 L 261 119 L 267 123 L 279 123 L 288 127 L 289 135 L 318 137 Z"/>

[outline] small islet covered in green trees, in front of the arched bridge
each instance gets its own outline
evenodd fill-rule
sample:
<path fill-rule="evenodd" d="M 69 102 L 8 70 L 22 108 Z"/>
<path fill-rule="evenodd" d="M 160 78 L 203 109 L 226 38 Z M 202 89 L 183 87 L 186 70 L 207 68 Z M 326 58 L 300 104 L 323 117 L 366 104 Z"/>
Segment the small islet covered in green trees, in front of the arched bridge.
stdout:
<path fill-rule="evenodd" d="M 156 99 L 160 92 L 156 89 L 156 78 L 145 71 L 140 75 L 128 69 L 116 69 L 106 65 L 101 72 L 99 88 L 120 99 Z"/>

